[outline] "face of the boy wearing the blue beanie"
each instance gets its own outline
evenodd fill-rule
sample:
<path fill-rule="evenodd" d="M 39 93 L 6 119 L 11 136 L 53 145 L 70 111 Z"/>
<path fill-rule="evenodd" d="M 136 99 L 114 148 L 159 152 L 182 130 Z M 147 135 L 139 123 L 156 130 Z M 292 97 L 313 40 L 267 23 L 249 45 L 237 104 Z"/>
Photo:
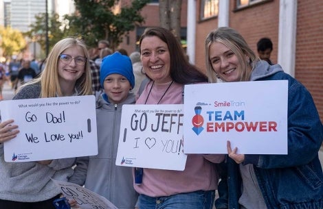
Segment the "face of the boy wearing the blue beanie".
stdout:
<path fill-rule="evenodd" d="M 126 77 L 118 73 L 108 75 L 103 82 L 104 93 L 107 94 L 110 103 L 121 103 L 128 97 L 131 84 Z"/>

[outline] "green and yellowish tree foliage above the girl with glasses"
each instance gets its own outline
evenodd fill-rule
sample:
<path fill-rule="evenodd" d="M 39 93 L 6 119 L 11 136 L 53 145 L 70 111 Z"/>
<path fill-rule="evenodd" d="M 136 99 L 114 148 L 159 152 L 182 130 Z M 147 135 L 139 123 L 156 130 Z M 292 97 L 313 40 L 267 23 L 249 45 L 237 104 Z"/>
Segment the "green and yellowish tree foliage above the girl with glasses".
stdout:
<path fill-rule="evenodd" d="M 140 10 L 149 0 L 133 0 L 131 5 L 121 8 L 114 14 L 113 8 L 118 0 L 75 0 L 76 14 L 65 15 L 62 21 L 58 14 L 49 16 L 48 39 L 49 48 L 58 40 L 67 36 L 82 37 L 90 47 L 96 46 L 98 40 L 109 40 L 111 48 L 118 47 L 122 36 L 133 29 L 135 25 L 144 22 Z M 25 35 L 38 42 L 43 51 L 46 47 L 45 13 L 35 16 L 36 21 Z"/>

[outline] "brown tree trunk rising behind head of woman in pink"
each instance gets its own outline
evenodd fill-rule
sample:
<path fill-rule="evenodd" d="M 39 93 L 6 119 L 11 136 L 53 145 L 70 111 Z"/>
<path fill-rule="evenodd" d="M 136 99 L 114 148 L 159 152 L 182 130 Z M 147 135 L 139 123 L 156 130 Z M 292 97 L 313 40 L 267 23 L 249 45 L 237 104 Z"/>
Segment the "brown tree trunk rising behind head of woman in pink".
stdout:
<path fill-rule="evenodd" d="M 160 26 L 169 29 L 181 40 L 181 1 L 159 0 Z"/>

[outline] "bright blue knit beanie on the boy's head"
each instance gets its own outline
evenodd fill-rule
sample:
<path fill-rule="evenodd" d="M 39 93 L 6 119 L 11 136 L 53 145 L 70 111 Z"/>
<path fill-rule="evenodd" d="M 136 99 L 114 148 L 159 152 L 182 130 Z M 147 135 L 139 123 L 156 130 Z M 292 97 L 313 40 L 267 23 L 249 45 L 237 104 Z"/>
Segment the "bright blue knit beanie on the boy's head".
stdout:
<path fill-rule="evenodd" d="M 128 56 L 122 55 L 119 51 L 103 58 L 100 69 L 100 84 L 102 88 L 104 79 L 113 73 L 118 73 L 129 80 L 131 88 L 135 86 L 135 75 L 133 75 L 133 65 Z"/>

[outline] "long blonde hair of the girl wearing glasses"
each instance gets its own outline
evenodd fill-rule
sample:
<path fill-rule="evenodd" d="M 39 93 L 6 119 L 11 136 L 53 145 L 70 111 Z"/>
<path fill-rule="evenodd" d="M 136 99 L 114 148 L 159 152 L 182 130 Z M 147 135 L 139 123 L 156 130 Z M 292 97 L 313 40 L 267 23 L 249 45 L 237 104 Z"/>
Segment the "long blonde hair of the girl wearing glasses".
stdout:
<path fill-rule="evenodd" d="M 89 53 L 87 52 L 87 47 L 82 40 L 77 38 L 64 38 L 54 45 L 52 51 L 50 51 L 47 59 L 45 60 L 45 68 L 39 77 L 33 79 L 32 82 L 28 82 L 23 86 L 30 84 L 41 83 L 41 98 L 45 97 L 56 97 L 56 95 L 62 95 L 62 90 L 60 89 L 60 84 L 58 82 L 58 56 L 60 53 L 65 51 L 67 48 L 71 47 L 81 47 L 85 57 L 89 59 Z M 76 88 L 78 89 L 78 95 L 91 95 L 92 85 L 91 85 L 91 69 L 89 61 L 87 60 L 85 64 L 85 73 L 76 81 Z M 21 86 L 21 88 L 23 88 Z"/>

